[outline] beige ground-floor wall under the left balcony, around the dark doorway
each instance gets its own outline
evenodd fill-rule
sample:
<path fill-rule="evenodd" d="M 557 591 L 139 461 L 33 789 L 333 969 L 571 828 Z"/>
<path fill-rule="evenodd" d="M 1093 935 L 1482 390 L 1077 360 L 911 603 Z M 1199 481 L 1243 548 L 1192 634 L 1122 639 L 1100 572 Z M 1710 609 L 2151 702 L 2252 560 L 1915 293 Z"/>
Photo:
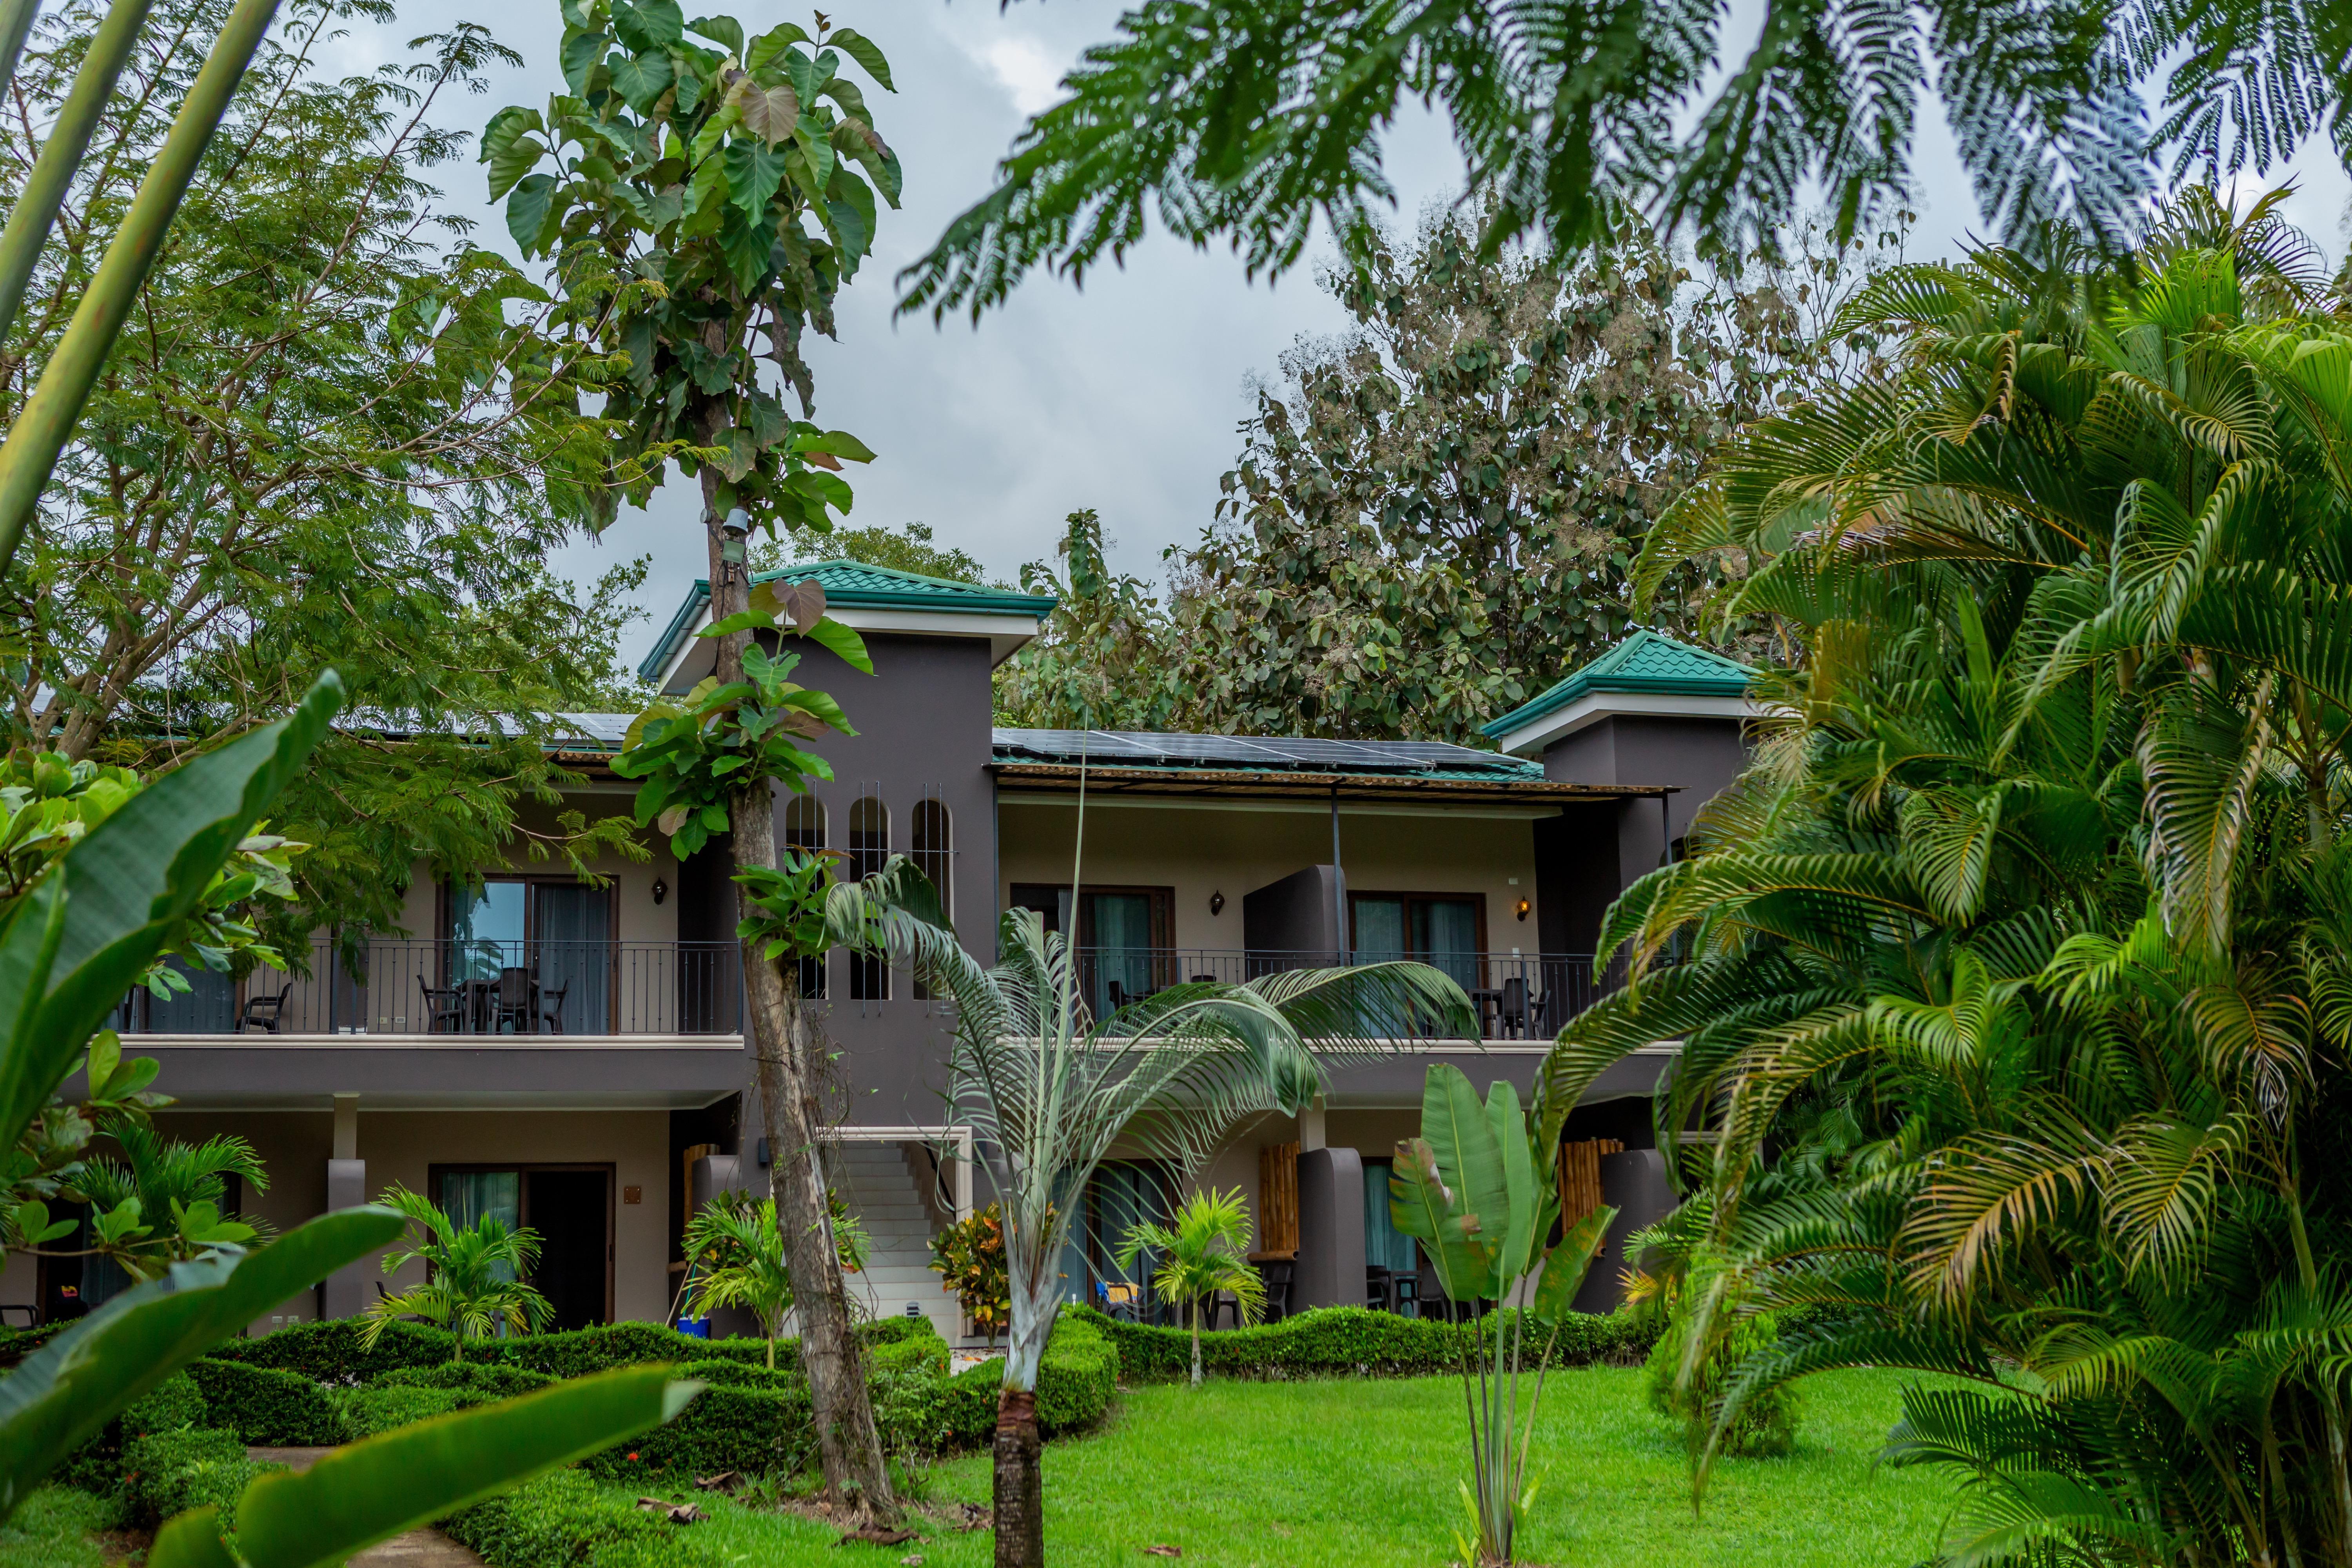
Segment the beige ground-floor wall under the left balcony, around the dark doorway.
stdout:
<path fill-rule="evenodd" d="M 233 1133 L 254 1145 L 270 1173 L 268 1192 L 247 1194 L 247 1211 L 275 1229 L 292 1229 L 327 1206 L 327 1154 L 334 1112 L 165 1112 L 155 1124 L 174 1138 Z M 430 1197 L 435 1164 L 612 1164 L 614 1316 L 661 1321 L 670 1309 L 670 1192 L 668 1112 L 369 1112 L 360 1107 L 360 1159 L 367 1192 L 400 1182 Z M 637 1187 L 640 1201 L 623 1204 Z M 374 1274 L 388 1291 L 423 1279 L 423 1265 Z M 374 1288 L 369 1288 L 374 1295 Z M 318 1314 L 315 1295 L 273 1312 Z M 263 1314 L 263 1326 L 268 1314 Z"/>

